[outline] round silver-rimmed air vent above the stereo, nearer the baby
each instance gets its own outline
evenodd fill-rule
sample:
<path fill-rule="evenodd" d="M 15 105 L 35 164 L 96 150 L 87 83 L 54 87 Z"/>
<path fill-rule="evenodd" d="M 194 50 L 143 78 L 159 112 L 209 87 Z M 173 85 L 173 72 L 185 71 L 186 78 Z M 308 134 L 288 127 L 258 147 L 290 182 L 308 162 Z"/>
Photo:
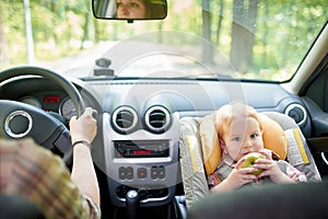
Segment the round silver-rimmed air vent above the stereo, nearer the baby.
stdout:
<path fill-rule="evenodd" d="M 152 106 L 144 115 L 145 126 L 152 132 L 164 132 L 171 125 L 171 114 L 163 106 Z"/>

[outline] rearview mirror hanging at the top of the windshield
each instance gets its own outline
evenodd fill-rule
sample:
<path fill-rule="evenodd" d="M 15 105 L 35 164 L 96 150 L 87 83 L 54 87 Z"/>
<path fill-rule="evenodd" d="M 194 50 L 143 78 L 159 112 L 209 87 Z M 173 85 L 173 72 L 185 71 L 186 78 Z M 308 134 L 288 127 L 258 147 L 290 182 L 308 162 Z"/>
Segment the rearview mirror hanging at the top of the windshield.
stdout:
<path fill-rule="evenodd" d="M 167 15 L 166 0 L 93 0 L 93 14 L 106 20 L 162 20 Z"/>

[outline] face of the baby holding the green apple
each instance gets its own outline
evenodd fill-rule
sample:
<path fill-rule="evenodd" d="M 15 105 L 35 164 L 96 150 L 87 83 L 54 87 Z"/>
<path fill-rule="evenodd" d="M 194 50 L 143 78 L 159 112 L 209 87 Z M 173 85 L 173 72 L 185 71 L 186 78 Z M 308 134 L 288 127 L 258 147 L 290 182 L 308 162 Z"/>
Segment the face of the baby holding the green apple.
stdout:
<path fill-rule="evenodd" d="M 233 120 L 230 132 L 224 136 L 224 142 L 229 154 L 235 161 L 249 152 L 263 149 L 259 123 L 253 117 Z"/>

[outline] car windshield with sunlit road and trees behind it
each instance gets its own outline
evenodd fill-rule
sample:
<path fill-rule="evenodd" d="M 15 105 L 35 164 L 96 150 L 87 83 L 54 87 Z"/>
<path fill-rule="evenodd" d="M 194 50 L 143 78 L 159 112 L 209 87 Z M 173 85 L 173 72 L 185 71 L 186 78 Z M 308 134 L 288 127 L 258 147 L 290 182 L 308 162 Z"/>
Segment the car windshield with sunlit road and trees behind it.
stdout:
<path fill-rule="evenodd" d="M 96 20 L 91 4 L 1 0 L 0 70 L 36 65 L 78 78 L 281 82 L 294 74 L 328 15 L 326 0 L 168 0 L 164 20 L 127 23 Z"/>

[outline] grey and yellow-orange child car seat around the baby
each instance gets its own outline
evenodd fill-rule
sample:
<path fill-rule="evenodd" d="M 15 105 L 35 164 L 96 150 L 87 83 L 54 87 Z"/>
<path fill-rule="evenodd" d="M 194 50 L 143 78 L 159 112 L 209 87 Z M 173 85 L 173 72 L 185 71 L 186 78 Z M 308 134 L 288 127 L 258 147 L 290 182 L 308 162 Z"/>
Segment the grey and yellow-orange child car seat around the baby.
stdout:
<path fill-rule="evenodd" d="M 207 175 L 213 173 L 221 160 L 213 116 L 214 113 L 180 119 L 180 165 L 187 208 L 209 195 Z M 277 112 L 263 112 L 261 124 L 266 148 L 304 172 L 307 181 L 321 181 L 305 138 L 292 118 Z"/>

